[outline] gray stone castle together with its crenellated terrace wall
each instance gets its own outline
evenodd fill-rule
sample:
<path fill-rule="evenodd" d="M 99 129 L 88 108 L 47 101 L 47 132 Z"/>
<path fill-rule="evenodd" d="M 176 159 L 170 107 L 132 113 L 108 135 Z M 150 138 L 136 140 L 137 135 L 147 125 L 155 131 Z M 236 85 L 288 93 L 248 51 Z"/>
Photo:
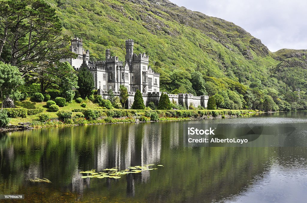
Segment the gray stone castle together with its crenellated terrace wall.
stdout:
<path fill-rule="evenodd" d="M 97 94 L 104 99 L 108 97 L 108 90 L 112 90 L 119 96 L 119 86 L 124 85 L 129 94 L 126 106 L 130 108 L 134 101 L 136 90 L 142 92 L 144 104 L 154 102 L 157 106 L 160 92 L 160 74 L 154 72 L 149 64 L 149 56 L 145 53 L 133 53 L 134 41 L 126 40 L 126 60 L 119 61 L 117 56 L 111 56 L 110 50 L 106 50 L 105 61 L 90 61 L 90 51 L 84 50 L 82 39 L 74 38 L 71 40 L 70 51 L 77 54 L 76 58 L 62 59 L 67 61 L 72 67 L 79 71 L 86 67 L 94 76 Z M 188 106 L 192 103 L 195 107 L 207 107 L 208 96 L 193 96 L 192 94 L 168 94 L 171 102 Z"/>

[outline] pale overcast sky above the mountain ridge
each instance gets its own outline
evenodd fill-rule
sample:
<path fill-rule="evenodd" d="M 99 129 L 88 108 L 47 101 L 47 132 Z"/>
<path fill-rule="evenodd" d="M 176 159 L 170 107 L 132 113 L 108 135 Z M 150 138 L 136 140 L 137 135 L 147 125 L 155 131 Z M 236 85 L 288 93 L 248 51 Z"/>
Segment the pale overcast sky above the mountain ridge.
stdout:
<path fill-rule="evenodd" d="M 170 0 L 178 6 L 219 17 L 261 39 L 270 51 L 307 49 L 305 0 Z"/>

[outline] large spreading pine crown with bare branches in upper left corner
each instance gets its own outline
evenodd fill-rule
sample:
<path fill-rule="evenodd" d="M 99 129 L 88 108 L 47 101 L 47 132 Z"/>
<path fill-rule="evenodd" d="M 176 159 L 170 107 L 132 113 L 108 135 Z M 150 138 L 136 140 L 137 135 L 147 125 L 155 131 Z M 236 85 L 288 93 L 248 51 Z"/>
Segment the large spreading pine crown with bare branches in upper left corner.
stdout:
<path fill-rule="evenodd" d="M 42 69 L 74 55 L 70 36 L 63 35 L 61 20 L 45 1 L 0 0 L 0 7 L 0 61 L 17 66 L 23 76 L 41 77 Z"/>

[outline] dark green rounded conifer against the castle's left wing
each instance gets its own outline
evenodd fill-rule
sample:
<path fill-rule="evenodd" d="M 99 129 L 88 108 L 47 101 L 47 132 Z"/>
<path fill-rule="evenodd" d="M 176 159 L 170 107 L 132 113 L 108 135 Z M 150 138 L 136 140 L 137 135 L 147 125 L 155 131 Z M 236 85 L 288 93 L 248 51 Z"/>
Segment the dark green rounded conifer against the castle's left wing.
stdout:
<path fill-rule="evenodd" d="M 78 86 L 82 98 L 90 95 L 91 90 L 94 89 L 94 77 L 86 67 L 82 67 L 78 73 Z"/>

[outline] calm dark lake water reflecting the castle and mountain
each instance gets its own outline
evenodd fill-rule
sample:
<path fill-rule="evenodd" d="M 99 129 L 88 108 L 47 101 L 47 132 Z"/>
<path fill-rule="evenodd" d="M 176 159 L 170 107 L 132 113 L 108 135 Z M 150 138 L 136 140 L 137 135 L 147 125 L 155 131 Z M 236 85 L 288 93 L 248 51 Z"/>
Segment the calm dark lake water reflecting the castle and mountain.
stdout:
<path fill-rule="evenodd" d="M 183 124 L 239 122 L 307 123 L 307 113 L 3 133 L 0 194 L 25 194 L 27 202 L 305 201 L 305 147 L 184 147 Z M 146 164 L 164 167 L 120 179 L 81 179 L 79 173 Z M 35 177 L 52 183 L 29 181 Z"/>

